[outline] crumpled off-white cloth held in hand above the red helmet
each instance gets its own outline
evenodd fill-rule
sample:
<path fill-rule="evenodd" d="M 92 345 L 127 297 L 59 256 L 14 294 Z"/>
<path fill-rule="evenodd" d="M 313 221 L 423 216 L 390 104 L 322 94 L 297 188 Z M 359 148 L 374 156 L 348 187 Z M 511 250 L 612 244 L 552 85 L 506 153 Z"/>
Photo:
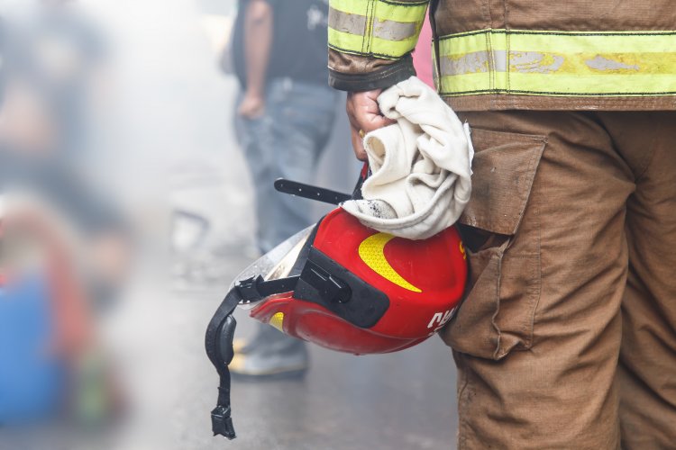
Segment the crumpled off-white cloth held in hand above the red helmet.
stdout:
<path fill-rule="evenodd" d="M 416 76 L 378 97 L 397 123 L 364 137 L 372 175 L 363 200 L 343 203 L 367 227 L 400 238 L 424 239 L 450 227 L 471 192 L 470 128 Z"/>

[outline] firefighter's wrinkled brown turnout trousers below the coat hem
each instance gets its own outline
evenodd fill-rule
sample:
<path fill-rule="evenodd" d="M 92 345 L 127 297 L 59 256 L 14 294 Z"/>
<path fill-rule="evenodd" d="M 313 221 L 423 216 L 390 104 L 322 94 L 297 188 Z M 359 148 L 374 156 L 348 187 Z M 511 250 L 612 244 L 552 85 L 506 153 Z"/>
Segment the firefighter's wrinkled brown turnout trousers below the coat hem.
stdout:
<path fill-rule="evenodd" d="M 459 448 L 676 443 L 676 112 L 469 112 Z"/>

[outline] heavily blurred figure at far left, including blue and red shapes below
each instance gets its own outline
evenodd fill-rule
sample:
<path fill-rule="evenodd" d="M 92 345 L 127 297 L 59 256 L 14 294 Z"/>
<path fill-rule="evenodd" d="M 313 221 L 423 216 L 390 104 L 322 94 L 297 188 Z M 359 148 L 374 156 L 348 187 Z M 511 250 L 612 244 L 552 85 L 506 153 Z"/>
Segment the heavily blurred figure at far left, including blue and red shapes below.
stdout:
<path fill-rule="evenodd" d="M 131 236 L 110 197 L 78 170 L 96 41 L 77 14 L 51 6 L 4 21 L 0 425 L 63 411 L 99 425 L 119 406 L 94 310 L 119 288 Z"/>

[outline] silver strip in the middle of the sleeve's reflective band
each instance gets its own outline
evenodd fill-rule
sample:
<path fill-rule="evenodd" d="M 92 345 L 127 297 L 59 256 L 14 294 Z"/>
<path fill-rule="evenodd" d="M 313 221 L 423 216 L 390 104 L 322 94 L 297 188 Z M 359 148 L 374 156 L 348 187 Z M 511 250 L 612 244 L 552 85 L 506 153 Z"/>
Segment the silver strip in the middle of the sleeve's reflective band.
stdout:
<path fill-rule="evenodd" d="M 329 27 L 335 31 L 363 36 L 366 32 L 366 16 L 329 8 Z M 406 40 L 416 36 L 417 28 L 417 23 L 380 20 L 376 17 L 373 20 L 373 37 L 383 40 Z"/>

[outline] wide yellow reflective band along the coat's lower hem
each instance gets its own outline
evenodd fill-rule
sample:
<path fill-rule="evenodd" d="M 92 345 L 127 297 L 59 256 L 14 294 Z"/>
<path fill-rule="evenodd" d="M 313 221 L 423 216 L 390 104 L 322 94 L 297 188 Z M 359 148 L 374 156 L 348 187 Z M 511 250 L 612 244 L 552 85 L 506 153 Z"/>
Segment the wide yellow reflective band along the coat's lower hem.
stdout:
<path fill-rule="evenodd" d="M 446 95 L 676 94 L 676 31 L 483 30 L 439 49 Z"/>

